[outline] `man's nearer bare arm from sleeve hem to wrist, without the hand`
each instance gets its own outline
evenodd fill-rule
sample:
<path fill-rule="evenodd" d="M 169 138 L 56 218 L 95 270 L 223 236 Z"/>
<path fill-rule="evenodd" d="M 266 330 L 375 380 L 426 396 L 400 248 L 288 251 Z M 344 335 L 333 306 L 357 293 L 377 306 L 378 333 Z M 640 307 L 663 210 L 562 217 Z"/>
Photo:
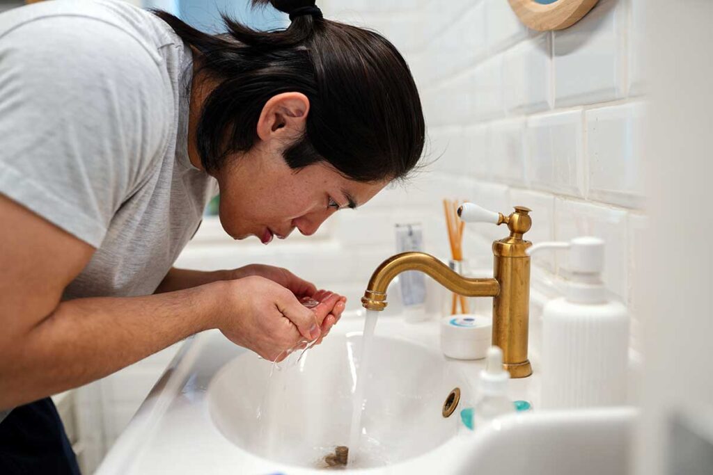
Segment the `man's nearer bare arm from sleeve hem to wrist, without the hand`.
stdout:
<path fill-rule="evenodd" d="M 214 327 L 221 283 L 60 302 L 94 249 L 0 195 L 0 408 L 82 385 Z"/>

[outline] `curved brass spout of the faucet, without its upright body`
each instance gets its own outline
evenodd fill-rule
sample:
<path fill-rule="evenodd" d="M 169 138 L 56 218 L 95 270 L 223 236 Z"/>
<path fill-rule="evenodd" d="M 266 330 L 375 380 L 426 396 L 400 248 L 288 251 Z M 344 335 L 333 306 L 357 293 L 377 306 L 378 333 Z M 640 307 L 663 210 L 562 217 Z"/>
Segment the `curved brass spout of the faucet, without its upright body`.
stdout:
<path fill-rule="evenodd" d="M 367 310 L 386 308 L 386 288 L 401 272 L 420 271 L 434 278 L 449 291 L 466 297 L 495 297 L 500 293 L 500 283 L 494 278 L 466 278 L 451 271 L 430 254 L 423 252 L 404 252 L 389 257 L 376 268 L 369 287 L 361 298 L 361 305 Z"/>

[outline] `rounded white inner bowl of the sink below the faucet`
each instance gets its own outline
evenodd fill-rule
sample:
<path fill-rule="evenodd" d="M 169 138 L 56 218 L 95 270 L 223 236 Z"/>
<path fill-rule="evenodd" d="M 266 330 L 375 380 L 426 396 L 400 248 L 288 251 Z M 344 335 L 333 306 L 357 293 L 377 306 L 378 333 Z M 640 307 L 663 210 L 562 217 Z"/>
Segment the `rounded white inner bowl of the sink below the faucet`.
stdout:
<path fill-rule="evenodd" d="M 361 421 L 364 450 L 350 466 L 391 465 L 438 447 L 458 431 L 459 411 L 441 414 L 454 387 L 468 399 L 462 371 L 441 353 L 398 338 L 374 337 Z M 329 335 L 296 365 L 272 370 L 252 353 L 236 357 L 210 382 L 212 422 L 233 444 L 284 464 L 327 466 L 324 457 L 349 445 L 352 392 L 361 333 Z"/>

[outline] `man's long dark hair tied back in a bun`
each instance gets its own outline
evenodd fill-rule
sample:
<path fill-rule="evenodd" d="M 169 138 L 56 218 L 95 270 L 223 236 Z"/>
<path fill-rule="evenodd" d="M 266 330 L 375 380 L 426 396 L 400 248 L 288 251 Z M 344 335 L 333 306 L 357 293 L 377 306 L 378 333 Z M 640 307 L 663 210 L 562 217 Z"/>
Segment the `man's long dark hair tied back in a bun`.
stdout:
<path fill-rule="evenodd" d="M 287 14 L 314 0 L 252 0 Z M 302 10 L 304 12 L 304 10 Z M 227 33 L 209 35 L 155 11 L 200 52 L 200 71 L 217 81 L 198 122 L 198 152 L 207 171 L 230 153 L 250 150 L 267 100 L 299 92 L 310 103 L 301 139 L 283 152 L 289 167 L 327 161 L 360 182 L 400 179 L 424 149 L 424 115 L 409 66 L 374 31 L 296 16 L 285 29 L 255 31 L 223 15 Z"/>

